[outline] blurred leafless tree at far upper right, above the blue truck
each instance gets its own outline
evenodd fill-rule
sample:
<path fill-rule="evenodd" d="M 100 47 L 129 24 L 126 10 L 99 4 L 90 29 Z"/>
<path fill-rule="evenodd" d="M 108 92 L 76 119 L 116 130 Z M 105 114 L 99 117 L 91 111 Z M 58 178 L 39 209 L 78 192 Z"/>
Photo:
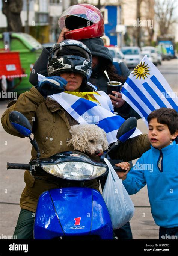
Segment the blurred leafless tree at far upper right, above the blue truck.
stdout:
<path fill-rule="evenodd" d="M 168 34 L 170 25 L 176 22 L 176 19 L 173 18 L 175 7 L 175 1 L 155 0 L 155 14 L 161 35 Z"/>

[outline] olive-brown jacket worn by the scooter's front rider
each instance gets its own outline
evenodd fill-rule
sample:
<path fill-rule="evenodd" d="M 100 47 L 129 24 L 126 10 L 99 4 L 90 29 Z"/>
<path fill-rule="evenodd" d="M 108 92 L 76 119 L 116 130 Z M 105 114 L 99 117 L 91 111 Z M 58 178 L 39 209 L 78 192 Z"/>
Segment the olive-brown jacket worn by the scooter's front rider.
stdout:
<path fill-rule="evenodd" d="M 62 151 L 74 151 L 72 146 L 69 147 L 67 145 L 67 141 L 71 138 L 69 133 L 70 126 L 77 124 L 77 122 L 71 118 L 59 103 L 49 97 L 45 99 L 35 87 L 30 89 L 29 92 L 21 94 L 18 100 L 4 112 L 1 122 L 6 132 L 24 138 L 9 122 L 9 112 L 13 110 L 25 115 L 32 125 L 32 133 L 38 142 L 41 158 L 46 158 Z M 112 158 L 130 161 L 139 158 L 149 148 L 148 136 L 139 135 L 128 139 L 119 147 L 117 152 L 112 153 Z M 31 154 L 32 159 L 35 159 L 36 151 L 34 148 L 32 148 Z M 26 182 L 26 187 L 21 195 L 20 206 L 30 211 L 36 210 L 38 197 L 42 192 L 59 187 L 49 180 L 37 180 L 30 175 L 29 171 L 25 171 L 24 181 Z M 98 188 L 96 180 L 86 182 L 85 185 Z"/>

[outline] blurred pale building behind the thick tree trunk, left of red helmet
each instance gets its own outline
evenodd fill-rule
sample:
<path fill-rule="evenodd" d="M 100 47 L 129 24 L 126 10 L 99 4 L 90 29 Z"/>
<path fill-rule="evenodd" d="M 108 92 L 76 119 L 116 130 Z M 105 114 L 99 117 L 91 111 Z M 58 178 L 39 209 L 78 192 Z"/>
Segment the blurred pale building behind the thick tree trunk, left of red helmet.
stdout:
<path fill-rule="evenodd" d="M 23 0 L 23 9 L 20 15 L 23 32 L 30 33 L 42 44 L 50 41 L 56 42 L 60 33 L 57 21 L 69 4 L 70 0 Z M 4 32 L 7 20 L 6 16 L 2 14 L 2 1 L 0 1 L 0 16 L 0 30 Z"/>

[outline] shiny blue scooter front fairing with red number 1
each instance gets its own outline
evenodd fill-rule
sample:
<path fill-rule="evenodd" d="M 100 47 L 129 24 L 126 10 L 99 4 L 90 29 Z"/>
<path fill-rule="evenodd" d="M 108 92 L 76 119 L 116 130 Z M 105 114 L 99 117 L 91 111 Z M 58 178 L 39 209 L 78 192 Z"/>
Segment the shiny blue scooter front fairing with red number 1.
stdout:
<path fill-rule="evenodd" d="M 113 239 L 110 215 L 95 189 L 69 187 L 42 193 L 35 215 L 35 239 Z"/>

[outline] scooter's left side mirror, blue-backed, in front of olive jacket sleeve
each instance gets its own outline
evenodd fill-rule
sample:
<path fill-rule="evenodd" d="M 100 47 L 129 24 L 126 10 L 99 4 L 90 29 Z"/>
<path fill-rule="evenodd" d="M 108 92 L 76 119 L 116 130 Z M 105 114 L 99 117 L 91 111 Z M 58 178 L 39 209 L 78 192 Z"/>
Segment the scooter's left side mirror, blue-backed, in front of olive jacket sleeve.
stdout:
<path fill-rule="evenodd" d="M 9 121 L 17 132 L 29 137 L 32 133 L 32 126 L 29 120 L 18 111 L 11 111 L 9 113 Z"/>

